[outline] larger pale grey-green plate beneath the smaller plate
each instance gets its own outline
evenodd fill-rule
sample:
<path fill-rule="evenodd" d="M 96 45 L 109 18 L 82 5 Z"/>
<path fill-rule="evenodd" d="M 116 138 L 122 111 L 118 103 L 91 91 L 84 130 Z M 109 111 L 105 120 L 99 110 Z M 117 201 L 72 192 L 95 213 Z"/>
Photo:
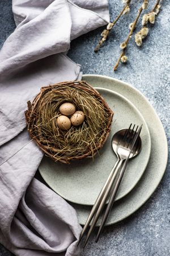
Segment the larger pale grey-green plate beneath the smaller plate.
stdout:
<path fill-rule="evenodd" d="M 152 195 L 162 179 L 168 160 L 168 144 L 165 132 L 158 115 L 147 101 L 145 96 L 137 89 L 125 82 L 112 79 L 105 76 L 85 75 L 83 80 L 90 82 L 96 87 L 111 89 L 128 98 L 141 112 L 151 135 L 151 155 L 145 173 L 139 180 L 139 183 L 123 199 L 116 202 L 111 214 L 108 217 L 107 224 L 111 225 L 123 220 L 135 210 L 139 209 Z M 84 224 L 90 213 L 91 207 L 72 204 L 78 213 L 80 224 Z M 100 220 L 99 220 L 100 221 Z"/>

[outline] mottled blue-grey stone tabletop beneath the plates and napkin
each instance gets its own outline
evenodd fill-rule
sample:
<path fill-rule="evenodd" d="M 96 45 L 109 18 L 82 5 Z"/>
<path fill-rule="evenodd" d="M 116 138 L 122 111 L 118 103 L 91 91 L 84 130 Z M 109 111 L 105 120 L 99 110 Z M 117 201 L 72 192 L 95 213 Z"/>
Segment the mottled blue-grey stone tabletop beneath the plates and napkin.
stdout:
<path fill-rule="evenodd" d="M 120 54 L 119 44 L 128 33 L 128 24 L 137 13 L 139 2 L 134 0 L 131 12 L 116 24 L 115 29 L 99 53 L 94 46 L 100 38 L 103 28 L 80 36 L 71 43 L 69 57 L 82 65 L 83 73 L 100 74 L 129 82 L 140 90 L 154 106 L 168 138 L 170 146 L 170 5 L 163 1 L 162 11 L 141 48 L 135 46 L 132 38 L 128 46 L 128 63 L 120 65 L 113 73 L 113 65 Z M 150 6 L 155 1 L 150 1 Z M 118 14 L 121 1 L 110 0 L 111 19 Z M 0 47 L 15 28 L 12 18 L 11 1 L 0 2 Z M 170 161 L 167 171 L 154 195 L 137 212 L 126 220 L 109 226 L 96 244 L 94 236 L 83 251 L 83 256 L 169 256 L 170 255 Z M 96 232 L 95 232 L 96 235 Z M 0 246 L 0 255 L 12 255 Z M 24 256 L 24 255 L 23 255 Z"/>

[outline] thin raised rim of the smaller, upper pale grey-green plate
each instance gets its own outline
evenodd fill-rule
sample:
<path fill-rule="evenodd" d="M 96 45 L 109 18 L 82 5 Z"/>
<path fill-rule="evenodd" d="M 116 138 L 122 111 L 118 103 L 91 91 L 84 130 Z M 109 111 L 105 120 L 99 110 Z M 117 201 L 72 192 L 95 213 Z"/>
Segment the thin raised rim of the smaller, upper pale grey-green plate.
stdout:
<path fill-rule="evenodd" d="M 146 127 L 146 130 L 147 130 L 147 135 L 148 135 L 148 140 L 149 140 L 149 150 L 148 150 L 148 156 L 147 156 L 147 161 L 146 161 L 146 164 L 145 164 L 145 167 L 143 168 L 143 171 L 142 171 L 142 174 L 141 176 L 139 177 L 138 181 L 128 190 L 128 192 L 124 193 L 124 195 L 118 197 L 118 200 L 121 200 L 123 197 L 125 197 L 126 195 L 128 195 L 128 193 L 130 193 L 134 187 L 138 184 L 139 180 L 141 179 L 141 177 L 143 176 L 143 174 L 145 173 L 145 170 L 147 168 L 147 165 L 148 165 L 148 162 L 150 160 L 150 155 L 151 155 L 151 135 L 150 135 L 150 130 L 148 129 L 148 126 L 147 126 L 147 122 L 145 121 L 145 118 L 143 118 L 143 115 L 141 114 L 141 112 L 139 112 L 138 108 L 130 101 L 128 100 L 128 98 L 124 97 L 123 95 L 121 95 L 120 93 L 117 93 L 117 92 L 114 92 L 113 90 L 111 89 L 107 89 L 107 88 L 102 88 L 102 87 L 96 87 L 94 86 L 94 88 L 96 90 L 104 90 L 105 92 L 109 92 L 109 93 L 112 93 L 112 94 L 115 94 L 117 97 L 120 97 L 122 98 L 122 100 L 128 102 L 128 104 L 131 106 L 131 108 L 134 109 L 134 111 L 139 115 L 139 118 L 141 119 L 141 121 L 143 123 L 145 123 L 145 127 Z M 99 92 L 100 93 L 100 92 Z M 114 110 L 113 110 L 114 111 Z M 123 127 L 122 127 L 123 129 Z M 114 154 L 114 153 L 113 153 Z M 43 161 L 44 157 L 42 158 L 42 161 Z M 46 180 L 46 176 L 44 176 L 44 173 L 43 171 L 41 170 L 41 163 L 40 163 L 40 166 L 39 166 L 39 172 L 40 172 L 40 175 L 42 176 L 42 178 L 44 179 L 44 181 L 46 182 L 46 184 L 49 185 L 50 188 L 53 189 L 54 192 L 56 192 L 59 196 L 61 196 L 63 199 L 67 200 L 69 203 L 73 203 L 73 204 L 79 204 L 79 205 L 83 205 L 85 207 L 91 207 L 93 204 L 87 204 L 87 203 L 79 203 L 78 201 L 74 201 L 74 200 L 70 200 L 68 198 L 66 198 L 66 196 L 64 196 L 62 193 L 59 193 L 56 189 L 54 189 L 54 187 L 51 187 L 51 185 L 49 184 L 48 180 Z"/>

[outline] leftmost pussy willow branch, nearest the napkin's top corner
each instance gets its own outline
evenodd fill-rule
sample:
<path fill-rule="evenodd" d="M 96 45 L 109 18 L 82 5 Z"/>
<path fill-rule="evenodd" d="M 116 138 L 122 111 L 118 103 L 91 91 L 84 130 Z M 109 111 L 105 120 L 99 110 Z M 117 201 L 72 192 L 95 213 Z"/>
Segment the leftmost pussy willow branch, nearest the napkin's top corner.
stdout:
<path fill-rule="evenodd" d="M 111 22 L 112 28 L 114 27 L 114 25 L 116 24 L 116 22 L 118 21 L 118 19 L 120 19 L 120 17 L 124 14 L 125 9 L 126 9 L 126 7 L 128 7 L 128 6 L 130 5 L 130 2 L 131 2 L 131 0 L 129 0 L 129 1 L 126 3 L 126 5 L 124 6 L 124 8 L 121 10 L 120 14 L 118 14 L 117 18 L 114 19 L 113 22 Z M 102 44 L 104 43 L 104 41 L 108 38 L 109 32 L 112 30 L 112 28 L 109 29 L 109 30 L 108 30 L 108 29 L 103 30 L 103 32 L 101 33 L 101 35 L 102 35 L 102 34 L 104 34 L 104 35 L 103 35 L 103 37 L 101 38 L 101 40 L 99 41 L 99 43 L 97 44 L 97 46 L 96 46 L 94 52 L 98 52 L 98 51 L 99 51 L 99 49 L 100 49 L 100 47 L 102 46 Z"/>

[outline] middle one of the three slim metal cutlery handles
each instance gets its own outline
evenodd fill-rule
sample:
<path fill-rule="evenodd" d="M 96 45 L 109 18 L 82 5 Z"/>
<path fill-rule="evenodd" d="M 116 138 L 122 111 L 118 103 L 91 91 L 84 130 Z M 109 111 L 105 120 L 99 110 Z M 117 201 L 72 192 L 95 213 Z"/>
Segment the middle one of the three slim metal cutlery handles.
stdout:
<path fill-rule="evenodd" d="M 90 229 L 88 230 L 86 239 L 85 239 L 85 241 L 84 241 L 83 248 L 86 246 L 86 243 L 88 242 L 88 239 L 90 238 L 91 233 L 92 233 L 92 231 L 93 231 L 94 228 L 95 228 L 96 222 L 97 222 L 97 220 L 99 219 L 100 213 L 101 213 L 101 211 L 103 210 L 105 203 L 107 202 L 108 195 L 109 195 L 109 193 L 111 192 L 112 185 L 113 185 L 113 183 L 114 183 L 114 180 L 116 179 L 117 173 L 118 173 L 118 171 L 120 170 L 120 168 L 121 168 L 123 162 L 124 162 L 124 159 L 120 159 L 120 160 L 118 161 L 118 164 L 116 165 L 116 167 L 115 167 L 115 168 L 113 167 L 113 168 L 114 168 L 113 175 L 111 176 L 111 179 L 109 180 L 109 183 L 108 183 L 107 187 L 105 188 L 104 195 L 103 195 L 103 197 L 102 197 L 101 200 L 100 200 L 99 207 L 97 208 L 97 210 L 96 210 L 96 212 L 95 212 L 95 217 L 94 217 L 94 220 L 92 221 L 92 224 L 91 224 L 91 226 L 90 226 Z M 117 163 L 117 162 L 116 162 L 116 163 Z M 113 170 L 112 170 L 112 171 L 113 171 Z"/>

